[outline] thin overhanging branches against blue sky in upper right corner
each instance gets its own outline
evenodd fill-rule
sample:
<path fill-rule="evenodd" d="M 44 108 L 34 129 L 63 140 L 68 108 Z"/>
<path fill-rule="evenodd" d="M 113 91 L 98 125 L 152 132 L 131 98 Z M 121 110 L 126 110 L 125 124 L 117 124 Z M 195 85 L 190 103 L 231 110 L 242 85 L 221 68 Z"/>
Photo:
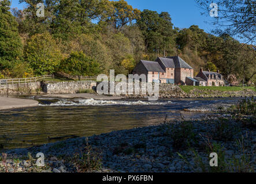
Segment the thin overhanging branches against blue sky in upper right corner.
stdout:
<path fill-rule="evenodd" d="M 207 16 L 212 9 L 207 0 L 195 0 Z M 216 0 L 218 17 L 214 17 L 214 31 L 218 34 L 238 36 L 242 41 L 256 41 L 256 2 L 254 0 Z"/>

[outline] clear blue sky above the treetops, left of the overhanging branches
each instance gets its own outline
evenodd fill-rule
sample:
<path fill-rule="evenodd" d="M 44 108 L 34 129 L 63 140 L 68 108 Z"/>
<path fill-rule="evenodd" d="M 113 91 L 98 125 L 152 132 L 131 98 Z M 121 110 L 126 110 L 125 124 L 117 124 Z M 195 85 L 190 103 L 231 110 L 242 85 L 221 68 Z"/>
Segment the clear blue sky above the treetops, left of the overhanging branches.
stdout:
<path fill-rule="evenodd" d="M 117 1 L 117 0 L 116 0 Z M 140 10 L 149 9 L 161 13 L 167 11 L 172 17 L 174 26 L 178 28 L 189 28 L 191 25 L 198 25 L 205 32 L 210 33 L 212 25 L 206 23 L 213 18 L 201 15 L 201 10 L 196 6 L 194 0 L 127 0 L 129 5 Z M 12 7 L 23 9 L 25 5 L 19 4 L 18 0 L 12 0 Z"/>

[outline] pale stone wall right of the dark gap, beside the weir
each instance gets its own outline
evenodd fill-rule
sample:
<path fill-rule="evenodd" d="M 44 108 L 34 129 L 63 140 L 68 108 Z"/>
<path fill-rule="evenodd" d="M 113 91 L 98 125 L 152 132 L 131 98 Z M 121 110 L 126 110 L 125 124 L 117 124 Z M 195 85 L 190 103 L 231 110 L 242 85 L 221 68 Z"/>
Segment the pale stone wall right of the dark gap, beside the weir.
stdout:
<path fill-rule="evenodd" d="M 44 83 L 42 90 L 49 94 L 74 94 L 79 90 L 93 89 L 96 85 L 95 81 Z"/>

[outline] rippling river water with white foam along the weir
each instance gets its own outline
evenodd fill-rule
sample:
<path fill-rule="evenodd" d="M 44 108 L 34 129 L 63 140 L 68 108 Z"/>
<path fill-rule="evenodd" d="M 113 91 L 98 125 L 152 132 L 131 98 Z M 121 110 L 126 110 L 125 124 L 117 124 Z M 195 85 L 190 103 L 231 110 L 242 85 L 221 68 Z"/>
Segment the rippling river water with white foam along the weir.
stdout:
<path fill-rule="evenodd" d="M 34 97 L 26 97 L 34 98 Z M 0 111 L 0 146 L 20 148 L 44 144 L 73 136 L 91 136 L 180 120 L 197 119 L 204 112 L 184 109 L 236 98 L 164 99 L 100 101 L 94 99 L 35 98 L 40 105 L 34 108 Z M 0 148 L 1 148 L 0 147 Z"/>

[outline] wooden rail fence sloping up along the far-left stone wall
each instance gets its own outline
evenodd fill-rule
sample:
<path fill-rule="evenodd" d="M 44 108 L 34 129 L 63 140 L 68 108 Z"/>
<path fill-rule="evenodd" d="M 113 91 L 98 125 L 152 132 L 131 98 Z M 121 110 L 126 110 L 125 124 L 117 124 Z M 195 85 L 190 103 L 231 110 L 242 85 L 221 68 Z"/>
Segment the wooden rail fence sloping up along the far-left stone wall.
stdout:
<path fill-rule="evenodd" d="M 52 79 L 54 78 L 54 75 L 42 75 L 42 76 L 36 76 L 32 78 L 20 78 L 20 79 L 0 79 L 0 85 L 9 85 L 9 84 L 27 84 L 27 83 L 32 83 L 36 81 L 40 81 L 42 79 Z"/>

